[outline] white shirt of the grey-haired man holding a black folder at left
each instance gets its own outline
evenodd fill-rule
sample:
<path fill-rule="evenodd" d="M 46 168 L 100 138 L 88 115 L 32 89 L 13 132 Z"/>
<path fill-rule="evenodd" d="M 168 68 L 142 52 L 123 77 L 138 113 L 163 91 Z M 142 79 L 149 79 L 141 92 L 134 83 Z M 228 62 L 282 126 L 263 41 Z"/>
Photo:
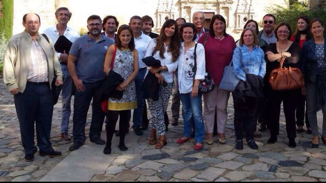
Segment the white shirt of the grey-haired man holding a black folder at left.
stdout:
<path fill-rule="evenodd" d="M 48 27 L 47 29 L 45 29 L 43 31 L 43 33 L 45 33 L 47 36 L 49 36 L 51 38 L 53 46 L 56 44 L 56 42 L 57 42 L 57 40 L 58 40 L 58 38 L 60 36 L 59 31 L 57 30 L 57 25 L 52 26 L 52 27 Z M 63 35 L 69 41 L 71 41 L 71 43 L 75 42 L 75 40 L 80 37 L 79 33 L 76 30 L 74 30 L 74 29 L 72 29 L 72 28 L 70 28 L 68 26 L 66 27 L 66 30 L 63 33 Z M 59 62 L 61 62 L 61 60 L 60 60 L 60 54 L 61 53 L 56 52 L 56 54 L 57 54 Z M 66 53 L 66 54 L 68 54 L 68 53 Z"/>

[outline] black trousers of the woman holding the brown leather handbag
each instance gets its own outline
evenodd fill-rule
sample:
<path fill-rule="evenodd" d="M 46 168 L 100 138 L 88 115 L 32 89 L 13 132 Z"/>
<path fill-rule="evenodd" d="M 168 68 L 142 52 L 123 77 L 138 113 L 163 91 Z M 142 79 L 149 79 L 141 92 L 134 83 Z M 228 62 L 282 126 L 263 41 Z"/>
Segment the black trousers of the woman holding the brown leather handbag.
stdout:
<path fill-rule="evenodd" d="M 277 136 L 280 130 L 281 102 L 283 101 L 283 111 L 285 115 L 286 132 L 289 139 L 296 137 L 295 108 L 300 100 L 300 91 L 274 91 L 268 95 L 270 136 Z"/>

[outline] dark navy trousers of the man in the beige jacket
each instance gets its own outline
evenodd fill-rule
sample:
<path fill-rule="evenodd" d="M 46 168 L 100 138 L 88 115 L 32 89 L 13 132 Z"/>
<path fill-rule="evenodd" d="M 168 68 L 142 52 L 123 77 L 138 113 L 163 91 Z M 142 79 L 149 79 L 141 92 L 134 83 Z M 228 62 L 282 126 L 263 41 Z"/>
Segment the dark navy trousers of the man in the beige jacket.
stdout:
<path fill-rule="evenodd" d="M 14 95 L 22 146 L 26 155 L 34 155 L 34 124 L 40 151 L 53 151 L 50 132 L 53 114 L 53 96 L 49 84 L 26 83 L 23 93 Z"/>

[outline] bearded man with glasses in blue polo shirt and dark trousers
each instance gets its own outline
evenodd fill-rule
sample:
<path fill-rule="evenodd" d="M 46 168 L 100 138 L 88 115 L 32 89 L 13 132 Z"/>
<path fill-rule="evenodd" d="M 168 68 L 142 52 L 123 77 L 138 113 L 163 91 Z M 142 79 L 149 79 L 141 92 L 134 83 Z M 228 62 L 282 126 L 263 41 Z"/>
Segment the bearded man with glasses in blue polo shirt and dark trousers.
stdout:
<path fill-rule="evenodd" d="M 75 84 L 73 144 L 69 147 L 70 151 L 79 149 L 85 143 L 85 125 L 89 105 L 101 81 L 106 77 L 103 68 L 105 54 L 107 48 L 114 44 L 112 40 L 101 34 L 101 17 L 90 16 L 87 19 L 87 28 L 89 32 L 72 44 L 68 57 L 69 73 Z M 103 121 L 104 113 L 100 103 L 93 101 L 89 134 L 91 142 L 105 144 L 100 137 Z"/>

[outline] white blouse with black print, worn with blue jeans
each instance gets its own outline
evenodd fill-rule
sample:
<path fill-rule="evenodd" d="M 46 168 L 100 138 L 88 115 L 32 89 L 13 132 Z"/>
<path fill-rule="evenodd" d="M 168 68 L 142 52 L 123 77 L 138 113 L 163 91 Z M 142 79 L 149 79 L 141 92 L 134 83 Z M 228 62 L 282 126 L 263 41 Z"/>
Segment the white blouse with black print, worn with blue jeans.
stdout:
<path fill-rule="evenodd" d="M 178 63 L 178 85 L 180 93 L 189 93 L 193 90 L 194 82 L 194 66 L 195 66 L 195 46 L 184 51 L 184 42 L 181 43 L 180 56 Z M 200 43 L 197 44 L 196 48 L 196 63 L 197 71 L 195 80 L 205 79 L 205 49 Z"/>

